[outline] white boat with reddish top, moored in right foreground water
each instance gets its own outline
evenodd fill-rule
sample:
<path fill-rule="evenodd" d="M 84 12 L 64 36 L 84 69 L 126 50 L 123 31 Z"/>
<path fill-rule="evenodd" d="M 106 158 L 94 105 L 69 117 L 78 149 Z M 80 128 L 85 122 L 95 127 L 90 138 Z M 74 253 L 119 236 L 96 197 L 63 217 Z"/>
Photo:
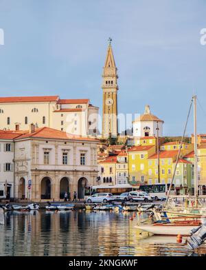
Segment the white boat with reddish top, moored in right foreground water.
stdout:
<path fill-rule="evenodd" d="M 190 231 L 192 229 L 197 229 L 199 226 L 201 226 L 200 220 L 183 220 L 170 223 L 139 225 L 136 228 L 159 236 L 176 236 L 178 234 L 190 236 Z"/>

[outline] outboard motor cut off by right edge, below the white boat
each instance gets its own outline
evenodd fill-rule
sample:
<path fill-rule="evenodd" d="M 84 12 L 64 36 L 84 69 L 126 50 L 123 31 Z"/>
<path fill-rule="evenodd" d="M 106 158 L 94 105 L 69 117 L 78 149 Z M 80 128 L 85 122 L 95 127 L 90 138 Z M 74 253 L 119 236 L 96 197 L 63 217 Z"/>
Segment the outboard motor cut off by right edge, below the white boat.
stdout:
<path fill-rule="evenodd" d="M 206 240 L 206 218 L 203 218 L 202 225 L 190 231 L 192 236 L 187 238 L 187 245 L 190 249 L 196 249 Z"/>

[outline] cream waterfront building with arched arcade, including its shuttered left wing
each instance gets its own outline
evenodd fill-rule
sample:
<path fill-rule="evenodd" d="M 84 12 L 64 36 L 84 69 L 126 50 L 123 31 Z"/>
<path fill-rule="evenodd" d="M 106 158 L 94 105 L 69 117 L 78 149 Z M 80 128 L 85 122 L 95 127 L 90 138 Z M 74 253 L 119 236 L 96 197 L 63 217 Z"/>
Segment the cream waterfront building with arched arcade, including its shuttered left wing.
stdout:
<path fill-rule="evenodd" d="M 85 185 L 97 181 L 98 143 L 35 125 L 21 132 L 0 130 L 0 198 L 60 200 L 65 191 L 84 198 Z"/>

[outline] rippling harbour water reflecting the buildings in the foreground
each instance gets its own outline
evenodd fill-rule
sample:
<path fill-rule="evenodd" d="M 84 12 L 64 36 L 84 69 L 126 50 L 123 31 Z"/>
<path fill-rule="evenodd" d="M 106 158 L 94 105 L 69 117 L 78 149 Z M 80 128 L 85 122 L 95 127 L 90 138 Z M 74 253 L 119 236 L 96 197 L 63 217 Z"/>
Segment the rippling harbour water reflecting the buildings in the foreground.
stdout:
<path fill-rule="evenodd" d="M 199 256 L 176 237 L 140 234 L 138 215 L 108 211 L 30 211 L 5 214 L 0 256 Z M 183 242 L 185 239 L 183 239 Z"/>

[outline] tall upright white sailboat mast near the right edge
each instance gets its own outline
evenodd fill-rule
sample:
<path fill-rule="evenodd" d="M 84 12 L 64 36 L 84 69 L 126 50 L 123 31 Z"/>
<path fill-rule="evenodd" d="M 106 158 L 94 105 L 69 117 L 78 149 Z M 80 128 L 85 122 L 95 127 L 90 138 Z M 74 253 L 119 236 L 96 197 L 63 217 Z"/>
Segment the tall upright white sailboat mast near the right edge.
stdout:
<path fill-rule="evenodd" d="M 194 196 L 198 198 L 197 132 L 196 132 L 196 96 L 194 101 Z"/>

